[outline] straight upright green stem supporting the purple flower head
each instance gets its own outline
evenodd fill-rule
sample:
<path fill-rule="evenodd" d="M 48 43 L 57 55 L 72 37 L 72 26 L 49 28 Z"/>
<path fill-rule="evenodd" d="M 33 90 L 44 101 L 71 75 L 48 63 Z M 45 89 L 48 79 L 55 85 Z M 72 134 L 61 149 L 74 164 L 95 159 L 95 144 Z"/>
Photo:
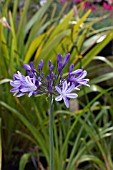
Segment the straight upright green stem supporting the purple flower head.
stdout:
<path fill-rule="evenodd" d="M 53 99 L 50 97 L 50 119 L 49 119 L 49 140 L 50 140 L 50 170 L 54 170 L 54 153 L 53 153 Z"/>

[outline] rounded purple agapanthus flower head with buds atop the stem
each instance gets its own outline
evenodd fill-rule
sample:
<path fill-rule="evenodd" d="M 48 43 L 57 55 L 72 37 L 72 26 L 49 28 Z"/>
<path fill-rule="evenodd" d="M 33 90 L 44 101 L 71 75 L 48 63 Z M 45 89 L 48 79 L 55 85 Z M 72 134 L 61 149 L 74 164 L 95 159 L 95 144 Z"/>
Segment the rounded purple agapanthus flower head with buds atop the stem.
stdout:
<path fill-rule="evenodd" d="M 66 107 L 69 108 L 69 100 L 76 98 L 77 94 L 73 91 L 79 90 L 82 85 L 88 85 L 89 79 L 85 79 L 87 72 L 82 69 L 74 70 L 74 64 L 69 67 L 69 72 L 63 76 L 63 70 L 70 59 L 70 54 L 63 57 L 61 54 L 57 56 L 57 67 L 49 60 L 49 74 L 45 76 L 43 73 L 43 60 L 40 60 L 37 70 L 34 68 L 33 62 L 24 64 L 23 67 L 27 72 L 27 76 L 22 75 L 19 71 L 14 74 L 13 81 L 10 82 L 13 88 L 10 90 L 14 96 L 20 97 L 28 93 L 28 97 L 38 94 L 49 94 L 55 96 L 56 101 L 63 100 Z M 59 94 L 57 96 L 57 94 Z"/>

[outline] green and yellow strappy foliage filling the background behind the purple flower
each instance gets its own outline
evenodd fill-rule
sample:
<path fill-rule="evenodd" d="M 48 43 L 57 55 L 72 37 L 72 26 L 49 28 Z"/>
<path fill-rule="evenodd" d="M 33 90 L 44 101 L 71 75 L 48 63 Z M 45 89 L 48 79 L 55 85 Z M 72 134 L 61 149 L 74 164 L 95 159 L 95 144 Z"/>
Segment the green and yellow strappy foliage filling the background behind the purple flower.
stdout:
<path fill-rule="evenodd" d="M 59 15 L 56 15 L 56 6 L 51 14 L 48 14 L 47 11 L 53 3 L 48 0 L 28 18 L 30 0 L 25 1 L 23 12 L 19 14 L 19 1 L 15 1 L 13 12 L 7 12 L 9 2 L 11 1 L 5 1 L 1 12 L 2 16 L 9 18 L 11 30 L 0 25 L 0 117 L 5 162 L 10 161 L 12 157 L 14 159 L 13 151 L 18 153 L 22 149 L 19 170 L 25 168 L 30 157 L 35 156 L 34 152 L 38 152 L 40 167 L 43 167 L 40 161 L 43 157 L 49 166 L 48 98 L 15 98 L 10 94 L 9 81 L 17 70 L 23 72 L 23 63 L 33 60 L 37 66 L 41 58 L 44 63 L 47 63 L 48 59 L 55 63 L 57 53 L 64 56 L 70 52 L 70 63 L 74 63 L 75 68 L 87 68 L 92 79 L 90 88 L 83 88 L 79 92 L 78 102 L 81 109 L 77 108 L 76 112 L 66 111 L 63 104 L 54 103 L 55 170 L 74 170 L 80 167 L 84 170 L 113 169 L 113 88 L 105 90 L 105 87 L 101 86 L 113 77 L 113 63 L 103 56 L 98 56 L 113 39 L 113 30 L 94 30 L 93 24 L 102 18 L 87 22 L 90 10 L 78 20 L 73 10 L 63 17 L 66 5 Z M 19 22 L 17 15 L 20 15 Z M 98 42 L 103 36 L 104 40 Z M 99 63 L 92 65 L 94 61 Z M 47 64 L 44 67 L 47 71 Z M 97 75 L 97 67 L 108 67 L 111 70 Z M 38 149 L 29 152 L 30 148 L 34 147 Z M 27 153 L 24 153 L 25 151 Z"/>

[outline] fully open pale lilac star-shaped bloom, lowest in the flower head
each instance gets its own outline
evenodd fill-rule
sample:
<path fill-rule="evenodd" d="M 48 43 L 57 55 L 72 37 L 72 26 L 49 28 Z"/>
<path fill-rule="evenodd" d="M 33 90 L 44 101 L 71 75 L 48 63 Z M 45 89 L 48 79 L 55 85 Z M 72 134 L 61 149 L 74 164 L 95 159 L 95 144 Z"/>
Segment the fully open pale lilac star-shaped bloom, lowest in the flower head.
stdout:
<path fill-rule="evenodd" d="M 55 100 L 61 101 L 63 99 L 67 108 L 69 108 L 69 99 L 76 98 L 78 96 L 76 93 L 71 93 L 75 89 L 75 86 L 68 86 L 67 81 L 63 82 L 61 89 L 58 86 L 55 86 L 55 89 L 60 94 L 55 98 Z"/>

